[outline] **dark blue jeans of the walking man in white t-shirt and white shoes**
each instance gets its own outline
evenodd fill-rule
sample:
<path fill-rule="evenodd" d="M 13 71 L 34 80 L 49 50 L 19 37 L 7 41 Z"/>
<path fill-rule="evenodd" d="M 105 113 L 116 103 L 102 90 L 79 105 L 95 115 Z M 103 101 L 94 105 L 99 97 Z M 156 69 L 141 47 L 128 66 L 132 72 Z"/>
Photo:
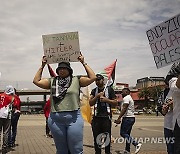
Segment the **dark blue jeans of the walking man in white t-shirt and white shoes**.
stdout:
<path fill-rule="evenodd" d="M 128 152 L 130 152 L 130 144 L 132 143 L 134 146 L 138 145 L 131 136 L 132 126 L 135 123 L 135 117 L 123 117 L 120 129 L 120 135 L 126 139 L 126 148 Z"/>

